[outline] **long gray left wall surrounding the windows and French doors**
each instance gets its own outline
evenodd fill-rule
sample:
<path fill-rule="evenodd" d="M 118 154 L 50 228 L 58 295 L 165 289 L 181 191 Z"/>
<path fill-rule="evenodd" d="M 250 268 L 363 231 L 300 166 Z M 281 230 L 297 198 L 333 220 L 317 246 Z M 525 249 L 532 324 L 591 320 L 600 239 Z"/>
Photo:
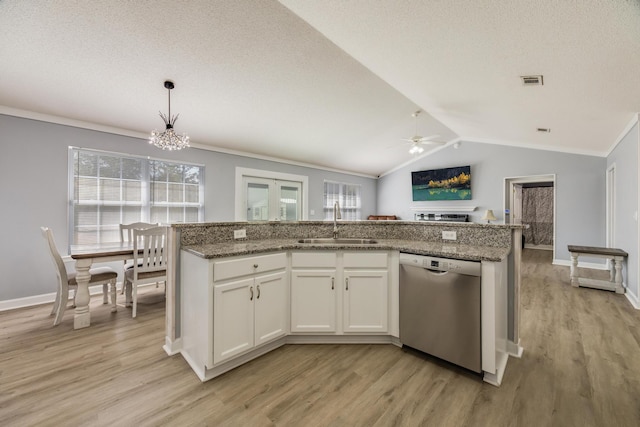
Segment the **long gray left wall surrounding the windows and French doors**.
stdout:
<path fill-rule="evenodd" d="M 152 156 L 205 165 L 205 221 L 234 220 L 236 166 L 309 177 L 309 209 L 322 219 L 323 180 L 362 185 L 362 215 L 375 214 L 376 180 L 279 162 L 189 149 L 164 152 L 146 140 L 0 114 L 0 301 L 55 292 L 55 273 L 40 226 L 58 250 L 68 245 L 68 147 Z"/>

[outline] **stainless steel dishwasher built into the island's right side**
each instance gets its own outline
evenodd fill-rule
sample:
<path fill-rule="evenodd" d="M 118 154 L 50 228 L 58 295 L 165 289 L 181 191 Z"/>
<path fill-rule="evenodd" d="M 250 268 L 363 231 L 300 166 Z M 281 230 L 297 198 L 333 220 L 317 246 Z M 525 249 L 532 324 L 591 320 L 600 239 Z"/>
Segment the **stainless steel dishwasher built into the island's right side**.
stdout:
<path fill-rule="evenodd" d="M 480 263 L 400 254 L 400 342 L 482 372 Z"/>

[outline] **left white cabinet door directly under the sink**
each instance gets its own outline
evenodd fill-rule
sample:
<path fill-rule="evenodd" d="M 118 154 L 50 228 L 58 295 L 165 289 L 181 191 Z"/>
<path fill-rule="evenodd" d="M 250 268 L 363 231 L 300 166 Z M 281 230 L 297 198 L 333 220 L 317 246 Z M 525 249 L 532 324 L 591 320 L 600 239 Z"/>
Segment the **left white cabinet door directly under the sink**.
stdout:
<path fill-rule="evenodd" d="M 335 269 L 292 270 L 291 332 L 335 332 Z"/>

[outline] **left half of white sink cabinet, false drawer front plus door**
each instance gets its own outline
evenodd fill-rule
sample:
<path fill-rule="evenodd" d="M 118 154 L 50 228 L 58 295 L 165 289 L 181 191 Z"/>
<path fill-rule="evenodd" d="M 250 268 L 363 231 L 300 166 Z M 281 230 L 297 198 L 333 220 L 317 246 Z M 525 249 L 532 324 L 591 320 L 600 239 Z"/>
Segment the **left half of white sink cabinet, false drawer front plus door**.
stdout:
<path fill-rule="evenodd" d="M 291 332 L 336 331 L 336 253 L 291 255 Z"/>

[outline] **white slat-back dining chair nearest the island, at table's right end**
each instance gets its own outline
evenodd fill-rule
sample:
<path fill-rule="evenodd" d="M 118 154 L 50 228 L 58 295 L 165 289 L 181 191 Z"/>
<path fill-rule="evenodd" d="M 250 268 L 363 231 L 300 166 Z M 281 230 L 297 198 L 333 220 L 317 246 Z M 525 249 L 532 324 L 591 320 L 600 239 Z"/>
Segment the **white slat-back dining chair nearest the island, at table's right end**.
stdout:
<path fill-rule="evenodd" d="M 136 317 L 138 285 L 167 281 L 167 227 L 133 230 L 133 268 L 125 271 L 124 287 L 127 306 L 133 304 Z"/>

